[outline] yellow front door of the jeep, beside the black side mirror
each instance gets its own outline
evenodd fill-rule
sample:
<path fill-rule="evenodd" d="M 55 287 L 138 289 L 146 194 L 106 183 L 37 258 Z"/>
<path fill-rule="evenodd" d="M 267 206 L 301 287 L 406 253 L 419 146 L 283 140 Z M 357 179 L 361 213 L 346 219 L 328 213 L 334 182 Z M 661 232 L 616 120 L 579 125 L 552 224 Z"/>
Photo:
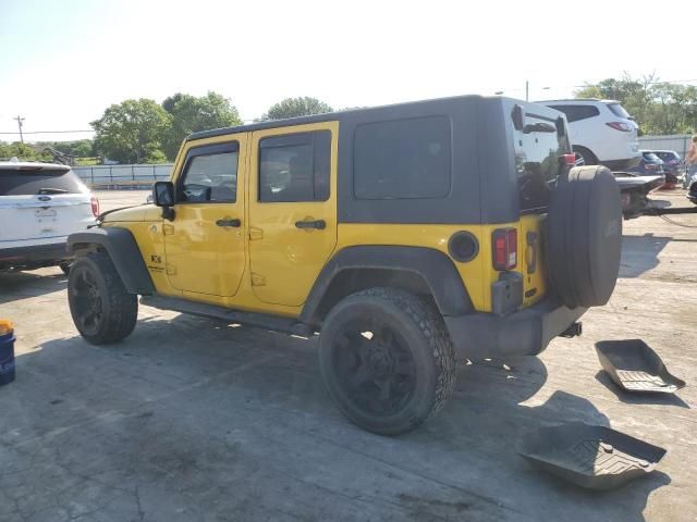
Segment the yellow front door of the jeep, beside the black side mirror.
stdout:
<path fill-rule="evenodd" d="M 174 219 L 162 225 L 167 274 L 179 290 L 237 293 L 245 268 L 247 142 L 246 134 L 235 134 L 187 142 L 181 152 Z"/>

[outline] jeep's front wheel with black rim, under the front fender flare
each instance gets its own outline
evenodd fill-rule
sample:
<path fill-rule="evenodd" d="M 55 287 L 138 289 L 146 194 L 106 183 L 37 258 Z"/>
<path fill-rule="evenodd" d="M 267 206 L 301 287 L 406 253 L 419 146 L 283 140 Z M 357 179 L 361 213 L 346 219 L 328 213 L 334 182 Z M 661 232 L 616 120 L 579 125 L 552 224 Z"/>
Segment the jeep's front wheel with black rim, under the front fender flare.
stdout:
<path fill-rule="evenodd" d="M 75 260 L 68 278 L 68 302 L 77 331 L 93 345 L 118 343 L 135 328 L 137 296 L 126 291 L 106 253 Z"/>

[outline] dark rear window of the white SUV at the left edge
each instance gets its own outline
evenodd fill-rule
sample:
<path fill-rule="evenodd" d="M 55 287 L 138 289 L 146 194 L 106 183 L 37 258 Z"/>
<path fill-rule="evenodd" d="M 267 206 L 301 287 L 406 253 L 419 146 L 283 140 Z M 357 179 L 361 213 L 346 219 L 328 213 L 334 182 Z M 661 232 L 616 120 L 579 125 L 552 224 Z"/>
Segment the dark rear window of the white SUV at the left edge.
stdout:
<path fill-rule="evenodd" d="M 62 169 L 0 169 L 0 196 L 87 192 L 87 187 L 83 185 L 73 171 Z"/>

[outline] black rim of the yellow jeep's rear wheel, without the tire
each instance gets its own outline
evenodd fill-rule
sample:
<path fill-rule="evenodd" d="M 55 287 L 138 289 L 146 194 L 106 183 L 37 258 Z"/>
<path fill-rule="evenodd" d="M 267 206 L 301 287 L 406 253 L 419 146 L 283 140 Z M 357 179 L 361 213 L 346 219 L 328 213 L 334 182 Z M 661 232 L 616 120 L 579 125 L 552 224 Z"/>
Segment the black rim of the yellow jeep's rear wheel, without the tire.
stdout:
<path fill-rule="evenodd" d="M 344 396 L 362 412 L 389 417 L 408 403 L 416 364 L 406 341 L 384 324 L 353 322 L 334 339 L 333 365 Z"/>

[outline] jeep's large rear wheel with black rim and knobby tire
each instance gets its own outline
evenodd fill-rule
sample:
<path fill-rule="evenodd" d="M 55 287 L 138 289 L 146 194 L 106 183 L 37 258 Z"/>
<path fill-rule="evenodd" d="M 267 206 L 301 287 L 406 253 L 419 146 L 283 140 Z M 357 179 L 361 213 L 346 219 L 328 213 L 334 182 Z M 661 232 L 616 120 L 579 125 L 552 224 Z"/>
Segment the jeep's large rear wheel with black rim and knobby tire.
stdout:
<path fill-rule="evenodd" d="M 381 435 L 419 426 L 455 385 L 455 353 L 438 310 L 393 288 L 353 294 L 332 309 L 322 324 L 319 364 L 339 409 Z"/>

